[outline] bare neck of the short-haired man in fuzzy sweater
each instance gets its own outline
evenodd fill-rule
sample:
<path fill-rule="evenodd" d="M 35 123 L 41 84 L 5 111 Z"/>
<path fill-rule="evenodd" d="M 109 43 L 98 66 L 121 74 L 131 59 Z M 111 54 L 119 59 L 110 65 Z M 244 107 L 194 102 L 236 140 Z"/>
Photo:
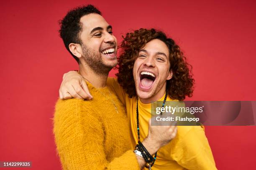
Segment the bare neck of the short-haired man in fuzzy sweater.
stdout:
<path fill-rule="evenodd" d="M 97 74 L 89 66 L 79 64 L 79 72 L 87 81 L 89 81 L 94 87 L 105 87 L 108 79 L 108 72 L 105 74 Z"/>

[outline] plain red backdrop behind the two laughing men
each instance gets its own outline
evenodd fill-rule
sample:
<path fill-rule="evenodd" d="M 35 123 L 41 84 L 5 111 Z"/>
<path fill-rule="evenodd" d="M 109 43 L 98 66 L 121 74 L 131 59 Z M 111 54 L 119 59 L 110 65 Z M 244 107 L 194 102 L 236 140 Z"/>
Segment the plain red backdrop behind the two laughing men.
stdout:
<path fill-rule="evenodd" d="M 254 0 L 8 0 L 0 7 L 0 161 L 61 169 L 51 118 L 63 73 L 78 67 L 58 20 L 87 3 L 102 11 L 119 42 L 130 29 L 151 27 L 176 40 L 193 65 L 189 100 L 256 100 Z M 255 169 L 256 126 L 206 127 L 206 135 L 218 169 Z"/>

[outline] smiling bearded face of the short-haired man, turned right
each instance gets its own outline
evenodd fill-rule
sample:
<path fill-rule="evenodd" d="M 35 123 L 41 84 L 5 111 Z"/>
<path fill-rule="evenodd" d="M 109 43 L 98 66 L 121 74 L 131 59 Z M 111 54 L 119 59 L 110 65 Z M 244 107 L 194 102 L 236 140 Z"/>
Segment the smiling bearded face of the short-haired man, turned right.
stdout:
<path fill-rule="evenodd" d="M 117 40 L 112 27 L 98 14 L 84 15 L 80 19 L 82 31 L 82 55 L 85 62 L 96 72 L 107 71 L 117 65 Z"/>

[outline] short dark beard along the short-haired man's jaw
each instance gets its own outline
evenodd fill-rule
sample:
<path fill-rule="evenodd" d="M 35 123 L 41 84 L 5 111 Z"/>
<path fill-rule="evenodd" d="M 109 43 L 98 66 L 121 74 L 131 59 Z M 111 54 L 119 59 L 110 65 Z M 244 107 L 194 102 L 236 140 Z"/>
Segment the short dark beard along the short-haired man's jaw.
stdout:
<path fill-rule="evenodd" d="M 110 72 L 110 70 L 115 67 L 115 65 L 112 66 L 105 64 L 102 60 L 100 52 L 96 52 L 86 45 L 82 44 L 82 51 L 84 61 L 98 75 L 108 75 L 108 72 Z"/>

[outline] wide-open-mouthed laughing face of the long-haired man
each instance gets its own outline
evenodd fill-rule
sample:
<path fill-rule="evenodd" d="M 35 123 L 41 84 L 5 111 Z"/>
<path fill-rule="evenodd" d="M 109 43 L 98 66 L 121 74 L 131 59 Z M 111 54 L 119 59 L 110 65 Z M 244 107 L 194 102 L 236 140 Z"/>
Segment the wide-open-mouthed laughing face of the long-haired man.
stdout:
<path fill-rule="evenodd" d="M 166 90 L 166 80 L 172 78 L 169 49 L 158 39 L 146 43 L 133 66 L 136 93 L 143 103 L 159 100 Z"/>

